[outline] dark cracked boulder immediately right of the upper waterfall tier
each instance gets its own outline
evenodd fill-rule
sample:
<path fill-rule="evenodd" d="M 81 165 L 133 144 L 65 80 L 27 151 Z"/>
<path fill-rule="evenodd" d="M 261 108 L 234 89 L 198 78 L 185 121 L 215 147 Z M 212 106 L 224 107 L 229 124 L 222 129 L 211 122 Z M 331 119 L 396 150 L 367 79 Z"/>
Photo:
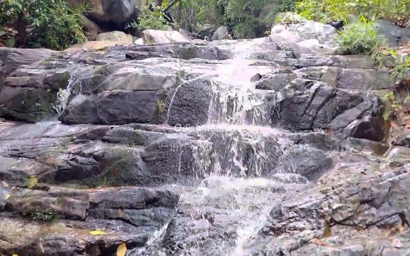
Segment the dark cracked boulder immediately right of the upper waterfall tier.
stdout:
<path fill-rule="evenodd" d="M 374 141 L 383 141 L 388 134 L 382 103 L 370 93 L 347 92 L 303 79 L 279 93 L 272 122 L 286 129 L 326 129 L 338 137 Z"/>

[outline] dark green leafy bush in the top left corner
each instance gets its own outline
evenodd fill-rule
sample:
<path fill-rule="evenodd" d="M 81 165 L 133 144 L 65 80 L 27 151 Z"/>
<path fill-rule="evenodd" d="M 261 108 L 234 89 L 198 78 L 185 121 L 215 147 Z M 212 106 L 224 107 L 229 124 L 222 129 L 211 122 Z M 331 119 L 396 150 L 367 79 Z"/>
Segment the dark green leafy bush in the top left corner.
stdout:
<path fill-rule="evenodd" d="M 84 9 L 70 8 L 64 0 L 5 0 L 0 10 L 0 27 L 17 30 L 17 46 L 62 50 L 86 39 Z"/>

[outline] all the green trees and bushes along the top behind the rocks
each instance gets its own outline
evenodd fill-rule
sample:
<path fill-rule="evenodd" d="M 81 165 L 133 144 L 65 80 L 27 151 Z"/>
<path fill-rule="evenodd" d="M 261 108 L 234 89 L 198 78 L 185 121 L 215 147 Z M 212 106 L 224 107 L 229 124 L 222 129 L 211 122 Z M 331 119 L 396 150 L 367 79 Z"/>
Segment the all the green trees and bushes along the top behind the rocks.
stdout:
<path fill-rule="evenodd" d="M 358 23 L 345 27 L 340 36 L 342 54 L 374 54 L 382 45 L 372 21 L 383 18 L 398 25 L 410 19 L 410 0 L 155 0 L 153 10 L 141 10 L 134 30 L 167 29 L 162 15 L 166 7 L 176 20 L 173 27 L 198 31 L 203 25 L 227 25 L 235 38 L 253 38 L 269 33 L 278 12 L 295 11 L 319 22 L 345 19 Z M 9 45 L 64 49 L 85 40 L 79 9 L 69 8 L 65 0 L 4 0 L 0 2 L 2 27 L 16 31 Z M 168 10 L 167 10 L 168 11 Z M 363 17 L 363 18 L 361 18 Z"/>

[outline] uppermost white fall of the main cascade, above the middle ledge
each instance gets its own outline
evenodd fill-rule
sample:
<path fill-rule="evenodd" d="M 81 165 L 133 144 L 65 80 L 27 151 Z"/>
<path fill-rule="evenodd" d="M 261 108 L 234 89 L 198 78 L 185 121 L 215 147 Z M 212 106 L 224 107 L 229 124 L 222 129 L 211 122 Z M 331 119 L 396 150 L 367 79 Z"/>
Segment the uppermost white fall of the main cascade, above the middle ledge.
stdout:
<path fill-rule="evenodd" d="M 263 92 L 255 90 L 251 78 L 256 73 L 272 72 L 272 67 L 252 66 L 249 56 L 256 52 L 258 41 L 242 41 L 233 50 L 234 58 L 217 65 L 212 79 L 212 100 L 209 123 L 262 124 L 264 116 Z"/>

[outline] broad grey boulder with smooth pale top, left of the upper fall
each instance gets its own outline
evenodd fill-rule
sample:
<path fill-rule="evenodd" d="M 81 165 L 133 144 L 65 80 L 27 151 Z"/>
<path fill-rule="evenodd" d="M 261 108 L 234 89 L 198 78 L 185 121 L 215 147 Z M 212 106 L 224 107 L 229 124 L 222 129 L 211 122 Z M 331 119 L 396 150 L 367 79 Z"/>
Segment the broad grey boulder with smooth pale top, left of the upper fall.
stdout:
<path fill-rule="evenodd" d="M 84 88 L 59 119 L 66 123 L 156 123 L 162 120 L 169 90 L 181 83 L 175 73 L 150 73 L 129 63 L 108 65 L 92 78 L 94 88 Z M 91 93 L 90 93 L 91 92 Z"/>

